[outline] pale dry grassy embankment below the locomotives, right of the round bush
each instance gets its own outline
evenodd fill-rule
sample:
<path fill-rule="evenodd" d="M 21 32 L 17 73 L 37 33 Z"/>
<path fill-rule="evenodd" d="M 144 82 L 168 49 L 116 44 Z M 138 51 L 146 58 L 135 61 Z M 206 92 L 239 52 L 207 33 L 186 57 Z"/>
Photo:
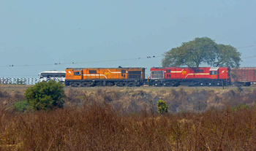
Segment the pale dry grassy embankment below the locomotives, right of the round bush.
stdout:
<path fill-rule="evenodd" d="M 150 100 L 167 101 L 169 112 L 206 112 L 208 109 L 225 109 L 227 106 L 249 104 L 254 106 L 256 101 L 256 89 L 239 92 L 238 90 L 203 90 L 203 89 L 170 89 L 170 90 L 143 90 L 127 89 L 108 90 L 67 90 L 67 104 L 80 106 L 84 101 L 104 101 L 112 105 L 116 110 L 123 112 L 140 112 L 150 105 Z"/>

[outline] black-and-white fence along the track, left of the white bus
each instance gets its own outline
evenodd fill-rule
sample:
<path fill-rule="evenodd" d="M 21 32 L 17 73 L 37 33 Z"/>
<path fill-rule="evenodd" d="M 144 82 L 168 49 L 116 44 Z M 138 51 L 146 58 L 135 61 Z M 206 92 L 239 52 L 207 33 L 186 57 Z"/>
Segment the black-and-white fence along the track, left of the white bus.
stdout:
<path fill-rule="evenodd" d="M 0 77 L 1 85 L 35 85 L 39 82 L 38 78 L 10 78 L 10 77 Z"/>

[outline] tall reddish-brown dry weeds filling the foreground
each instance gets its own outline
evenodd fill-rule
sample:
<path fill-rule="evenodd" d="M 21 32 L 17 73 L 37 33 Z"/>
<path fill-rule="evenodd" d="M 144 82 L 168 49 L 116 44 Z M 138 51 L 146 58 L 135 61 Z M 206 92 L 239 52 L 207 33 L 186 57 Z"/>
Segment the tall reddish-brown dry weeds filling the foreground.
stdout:
<path fill-rule="evenodd" d="M 0 109 L 2 150 L 256 150 L 256 109 L 154 115 L 92 102 L 50 112 Z"/>

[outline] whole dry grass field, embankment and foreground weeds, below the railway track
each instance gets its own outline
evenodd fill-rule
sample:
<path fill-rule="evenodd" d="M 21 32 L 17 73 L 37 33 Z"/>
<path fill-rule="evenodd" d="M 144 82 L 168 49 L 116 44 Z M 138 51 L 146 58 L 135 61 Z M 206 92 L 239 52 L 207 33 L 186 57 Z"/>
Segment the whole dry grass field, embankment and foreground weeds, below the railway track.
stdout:
<path fill-rule="evenodd" d="M 24 90 L 0 89 L 0 150 L 256 150 L 255 88 L 65 93 L 64 109 L 16 112 Z"/>

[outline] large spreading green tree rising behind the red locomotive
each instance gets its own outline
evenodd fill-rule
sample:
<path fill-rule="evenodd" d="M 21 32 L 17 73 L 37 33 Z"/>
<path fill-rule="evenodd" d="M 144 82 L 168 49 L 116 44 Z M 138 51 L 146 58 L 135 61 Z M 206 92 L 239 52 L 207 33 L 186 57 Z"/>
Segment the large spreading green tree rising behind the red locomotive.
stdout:
<path fill-rule="evenodd" d="M 207 63 L 209 66 L 236 67 L 240 65 L 240 56 L 235 47 L 217 44 L 208 37 L 195 38 L 165 52 L 162 66 L 198 67 Z"/>

